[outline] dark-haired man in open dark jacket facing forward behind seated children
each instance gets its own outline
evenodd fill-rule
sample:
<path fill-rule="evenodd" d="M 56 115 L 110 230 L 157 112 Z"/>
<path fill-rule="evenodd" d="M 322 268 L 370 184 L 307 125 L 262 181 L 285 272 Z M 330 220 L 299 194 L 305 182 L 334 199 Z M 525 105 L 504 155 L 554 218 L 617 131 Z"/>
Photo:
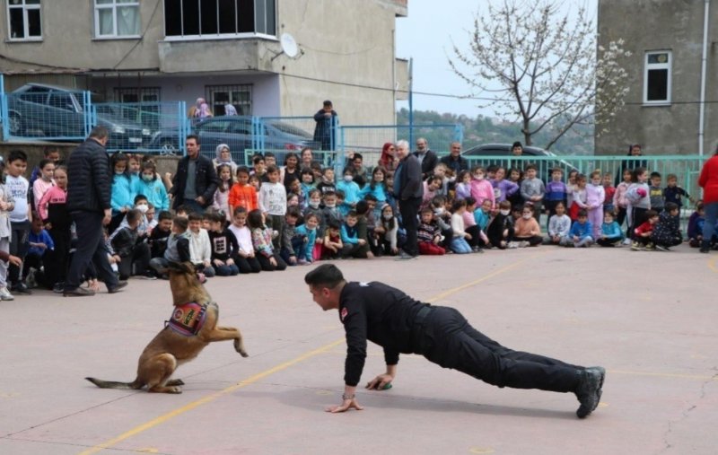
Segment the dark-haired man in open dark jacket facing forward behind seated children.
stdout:
<path fill-rule="evenodd" d="M 177 163 L 177 172 L 172 178 L 172 208 L 185 206 L 189 212 L 204 214 L 219 185 L 217 171 L 212 160 L 199 154 L 197 136 L 187 136 L 185 147 L 187 155 Z"/>

